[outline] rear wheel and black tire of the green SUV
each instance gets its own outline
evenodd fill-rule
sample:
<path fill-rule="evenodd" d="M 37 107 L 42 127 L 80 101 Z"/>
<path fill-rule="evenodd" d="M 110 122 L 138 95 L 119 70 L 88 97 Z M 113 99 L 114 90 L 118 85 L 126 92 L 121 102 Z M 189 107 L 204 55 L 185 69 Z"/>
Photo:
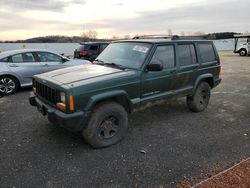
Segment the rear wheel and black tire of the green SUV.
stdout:
<path fill-rule="evenodd" d="M 201 112 L 207 108 L 211 95 L 211 88 L 207 82 L 201 82 L 193 96 L 187 97 L 187 106 L 193 112 Z"/>

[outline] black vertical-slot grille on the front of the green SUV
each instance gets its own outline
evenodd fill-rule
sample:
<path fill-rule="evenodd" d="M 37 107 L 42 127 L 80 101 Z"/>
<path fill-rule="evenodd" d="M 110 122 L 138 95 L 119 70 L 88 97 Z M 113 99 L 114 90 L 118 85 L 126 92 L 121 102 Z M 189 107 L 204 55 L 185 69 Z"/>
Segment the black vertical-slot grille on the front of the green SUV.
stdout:
<path fill-rule="evenodd" d="M 51 102 L 52 104 L 56 104 L 59 100 L 59 91 L 56 89 L 52 89 L 38 81 L 34 81 L 34 87 L 36 88 L 36 93 L 41 98 Z"/>

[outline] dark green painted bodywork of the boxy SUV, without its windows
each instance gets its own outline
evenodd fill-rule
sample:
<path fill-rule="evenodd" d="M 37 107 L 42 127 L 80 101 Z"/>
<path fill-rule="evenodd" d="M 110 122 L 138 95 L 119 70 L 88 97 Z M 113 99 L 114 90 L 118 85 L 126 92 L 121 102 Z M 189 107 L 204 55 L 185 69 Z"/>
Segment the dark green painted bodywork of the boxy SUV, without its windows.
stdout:
<path fill-rule="evenodd" d="M 201 80 L 208 81 L 212 88 L 220 83 L 220 60 L 210 41 L 130 40 L 121 42 L 152 45 L 141 68 L 123 70 L 112 66 L 84 64 L 36 75 L 34 79 L 46 82 L 49 87 L 66 93 L 65 113 L 68 114 L 74 113 L 69 111 L 67 105 L 70 95 L 74 97 L 75 112 L 89 112 L 98 102 L 105 100 L 116 100 L 123 106 L 127 106 L 128 111 L 133 111 L 133 108 L 145 102 L 177 95 L 192 95 Z M 180 66 L 178 57 L 181 52 L 178 52 L 176 47 L 179 43 L 195 46 L 197 63 Z M 198 43 L 211 43 L 216 60 L 201 63 Z M 157 46 L 166 44 L 175 47 L 175 66 L 161 71 L 147 71 L 146 65 L 149 64 Z M 44 102 L 46 103 L 46 100 Z"/>

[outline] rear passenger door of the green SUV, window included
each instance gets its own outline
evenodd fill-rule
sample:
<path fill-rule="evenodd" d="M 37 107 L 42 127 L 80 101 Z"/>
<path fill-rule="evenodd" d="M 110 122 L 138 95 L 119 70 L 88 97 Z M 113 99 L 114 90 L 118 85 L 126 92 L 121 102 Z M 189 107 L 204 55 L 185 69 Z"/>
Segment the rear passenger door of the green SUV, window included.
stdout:
<path fill-rule="evenodd" d="M 195 44 L 190 42 L 177 44 L 178 69 L 174 90 L 180 94 L 187 94 L 192 90 L 199 63 Z"/>

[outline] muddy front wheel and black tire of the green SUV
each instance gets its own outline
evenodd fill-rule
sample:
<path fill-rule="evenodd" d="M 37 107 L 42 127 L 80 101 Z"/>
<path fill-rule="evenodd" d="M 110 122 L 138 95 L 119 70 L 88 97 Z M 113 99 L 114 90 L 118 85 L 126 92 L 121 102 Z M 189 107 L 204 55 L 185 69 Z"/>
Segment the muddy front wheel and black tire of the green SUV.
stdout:
<path fill-rule="evenodd" d="M 83 130 L 84 139 L 94 148 L 111 146 L 119 142 L 128 129 L 128 114 L 118 103 L 97 105 Z"/>

